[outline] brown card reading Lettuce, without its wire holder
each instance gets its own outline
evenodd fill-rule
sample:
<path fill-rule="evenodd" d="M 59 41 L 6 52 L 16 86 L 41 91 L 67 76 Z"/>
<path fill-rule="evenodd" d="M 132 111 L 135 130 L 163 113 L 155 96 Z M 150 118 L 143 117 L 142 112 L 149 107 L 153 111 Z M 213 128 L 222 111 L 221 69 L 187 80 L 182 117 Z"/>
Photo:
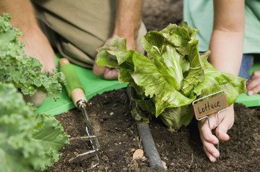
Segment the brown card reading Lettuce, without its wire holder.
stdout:
<path fill-rule="evenodd" d="M 228 103 L 226 94 L 221 94 L 193 104 L 193 110 L 197 120 L 212 113 L 217 113 L 227 107 Z"/>

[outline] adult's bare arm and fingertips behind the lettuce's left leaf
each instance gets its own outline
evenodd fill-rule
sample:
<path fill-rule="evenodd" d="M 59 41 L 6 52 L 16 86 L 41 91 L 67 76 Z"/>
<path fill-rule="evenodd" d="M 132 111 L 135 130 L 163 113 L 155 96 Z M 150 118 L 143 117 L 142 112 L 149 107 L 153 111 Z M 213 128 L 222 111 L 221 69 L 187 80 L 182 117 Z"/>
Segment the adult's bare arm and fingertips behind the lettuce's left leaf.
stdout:
<path fill-rule="evenodd" d="M 125 38 L 128 49 L 135 50 L 137 48 L 136 39 L 141 24 L 141 8 L 142 0 L 117 1 L 116 22 L 112 37 L 119 36 Z M 95 75 L 103 75 L 105 79 L 117 79 L 118 77 L 116 69 L 101 67 L 96 64 L 94 64 L 93 73 Z"/>

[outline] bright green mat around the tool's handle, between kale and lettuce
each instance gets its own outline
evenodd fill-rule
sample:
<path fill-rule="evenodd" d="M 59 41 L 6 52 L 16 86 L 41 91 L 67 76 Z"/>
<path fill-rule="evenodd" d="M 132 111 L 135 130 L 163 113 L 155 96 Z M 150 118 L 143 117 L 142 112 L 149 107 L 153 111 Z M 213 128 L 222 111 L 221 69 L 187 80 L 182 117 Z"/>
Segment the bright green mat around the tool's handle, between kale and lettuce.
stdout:
<path fill-rule="evenodd" d="M 56 57 L 56 66 L 58 66 L 59 57 Z M 119 83 L 117 80 L 105 80 L 97 77 L 92 70 L 82 68 L 72 64 L 76 70 L 80 82 L 83 84 L 87 99 L 91 99 L 94 95 L 102 94 L 105 91 L 117 90 L 125 88 L 128 83 Z M 44 113 L 49 115 L 59 115 L 75 108 L 73 102 L 67 95 L 66 88 L 62 88 L 59 99 L 44 99 L 44 102 L 37 108 L 36 113 Z"/>

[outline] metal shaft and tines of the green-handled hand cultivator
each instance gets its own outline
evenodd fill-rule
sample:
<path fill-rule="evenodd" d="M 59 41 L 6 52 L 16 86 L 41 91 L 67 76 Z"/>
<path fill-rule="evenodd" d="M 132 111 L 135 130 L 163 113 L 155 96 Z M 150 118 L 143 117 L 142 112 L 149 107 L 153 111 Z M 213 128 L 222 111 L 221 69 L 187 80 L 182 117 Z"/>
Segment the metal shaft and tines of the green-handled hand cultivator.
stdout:
<path fill-rule="evenodd" d="M 76 155 L 76 157 L 72 157 L 69 160 L 69 162 L 78 162 L 78 160 L 85 160 L 88 157 L 95 156 L 96 161 L 94 162 L 94 164 L 92 163 L 92 165 L 89 168 L 89 169 L 92 169 L 92 168 L 98 166 L 98 164 L 100 164 L 100 160 L 99 160 L 99 157 L 98 157 L 100 145 L 99 145 L 99 142 L 98 142 L 98 138 L 95 135 L 94 128 L 92 127 L 92 124 L 89 121 L 89 117 L 87 115 L 87 111 L 86 111 L 87 102 L 85 101 L 85 99 L 80 99 L 76 103 L 76 105 L 77 105 L 77 108 L 80 109 L 83 113 L 84 121 L 85 121 L 85 124 L 86 124 L 85 130 L 86 130 L 86 133 L 87 133 L 87 137 L 84 137 L 84 138 L 87 138 L 89 140 L 90 144 L 92 145 L 92 150 L 89 150 L 85 153 L 80 153 L 80 154 Z"/>

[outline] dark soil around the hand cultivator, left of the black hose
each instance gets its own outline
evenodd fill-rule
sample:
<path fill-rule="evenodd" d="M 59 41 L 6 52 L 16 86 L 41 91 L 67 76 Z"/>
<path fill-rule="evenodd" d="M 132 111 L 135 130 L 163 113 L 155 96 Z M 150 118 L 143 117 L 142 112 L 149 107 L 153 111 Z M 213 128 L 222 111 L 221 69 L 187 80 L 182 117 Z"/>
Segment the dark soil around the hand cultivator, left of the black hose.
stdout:
<path fill-rule="evenodd" d="M 95 128 L 98 141 L 101 144 L 99 157 L 101 164 L 91 171 L 149 171 L 148 160 L 133 161 L 132 155 L 137 149 L 141 149 L 135 121 L 130 116 L 130 102 L 125 89 L 97 95 L 89 100 L 87 113 Z M 64 126 L 65 131 L 71 136 L 85 136 L 85 123 L 83 115 L 77 109 L 57 116 Z M 62 158 L 58 164 L 49 171 L 87 171 L 96 158 L 92 157 L 77 163 L 69 163 L 68 160 L 80 153 L 76 149 L 88 151 L 91 147 L 85 142 L 71 141 L 71 144 L 61 150 Z"/>

